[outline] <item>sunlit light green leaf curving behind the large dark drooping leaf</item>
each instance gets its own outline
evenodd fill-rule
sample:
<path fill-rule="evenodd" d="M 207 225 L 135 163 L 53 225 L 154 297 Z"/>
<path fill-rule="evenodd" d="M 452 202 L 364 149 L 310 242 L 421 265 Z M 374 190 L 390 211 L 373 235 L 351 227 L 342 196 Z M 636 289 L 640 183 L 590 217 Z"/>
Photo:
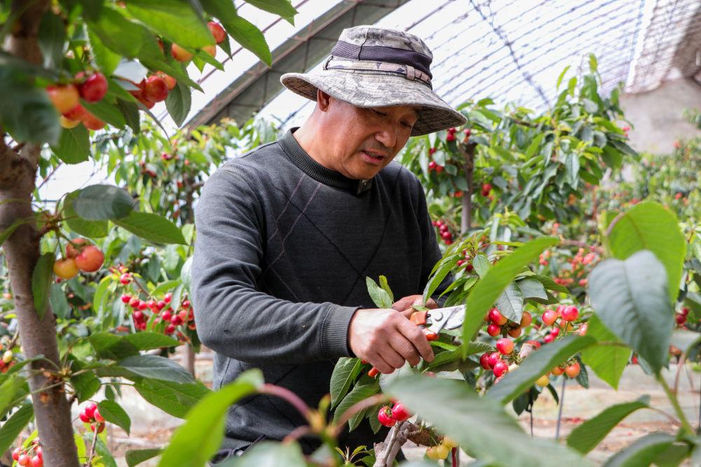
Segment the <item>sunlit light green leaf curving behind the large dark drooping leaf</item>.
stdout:
<path fill-rule="evenodd" d="M 608 235 L 611 253 L 625 260 L 640 250 L 649 250 L 667 270 L 669 300 L 679 293 L 686 242 L 676 216 L 656 202 L 641 202 L 618 219 Z"/>

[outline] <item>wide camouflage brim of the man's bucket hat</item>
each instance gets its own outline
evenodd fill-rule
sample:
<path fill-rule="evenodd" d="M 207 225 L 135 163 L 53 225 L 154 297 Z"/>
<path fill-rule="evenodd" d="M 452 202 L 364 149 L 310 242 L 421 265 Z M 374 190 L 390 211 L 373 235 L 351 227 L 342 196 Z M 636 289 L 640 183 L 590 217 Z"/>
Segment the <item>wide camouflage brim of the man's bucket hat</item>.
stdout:
<path fill-rule="evenodd" d="M 427 85 L 402 76 L 324 70 L 286 73 L 280 77 L 280 82 L 285 88 L 313 101 L 316 101 L 316 90 L 320 89 L 356 107 L 421 107 L 411 136 L 458 127 L 467 121 Z"/>

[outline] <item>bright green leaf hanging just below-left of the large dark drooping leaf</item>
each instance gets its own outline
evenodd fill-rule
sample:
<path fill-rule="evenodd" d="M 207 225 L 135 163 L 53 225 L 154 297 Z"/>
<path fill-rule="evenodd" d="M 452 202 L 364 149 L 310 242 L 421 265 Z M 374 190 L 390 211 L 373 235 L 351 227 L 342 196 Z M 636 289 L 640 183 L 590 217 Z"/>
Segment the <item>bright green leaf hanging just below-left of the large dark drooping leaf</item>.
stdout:
<path fill-rule="evenodd" d="M 599 342 L 620 342 L 596 314 L 592 314 L 587 321 L 587 335 Z M 618 389 L 618 382 L 631 353 L 629 348 L 618 345 L 594 345 L 582 351 L 582 360 L 598 377 L 611 384 L 613 389 Z"/>

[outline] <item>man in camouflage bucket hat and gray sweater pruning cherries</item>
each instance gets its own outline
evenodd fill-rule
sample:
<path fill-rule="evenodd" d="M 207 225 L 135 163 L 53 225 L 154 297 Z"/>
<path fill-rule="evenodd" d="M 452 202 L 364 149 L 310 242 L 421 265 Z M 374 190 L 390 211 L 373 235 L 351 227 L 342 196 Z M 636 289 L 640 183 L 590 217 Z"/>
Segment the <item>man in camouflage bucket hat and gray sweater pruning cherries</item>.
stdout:
<path fill-rule="evenodd" d="M 281 78 L 315 100 L 306 123 L 205 183 L 192 299 L 200 340 L 215 351 L 215 388 L 260 368 L 315 407 L 340 357 L 383 373 L 433 359 L 408 316 L 440 250 L 416 176 L 390 164 L 410 136 L 465 123 L 431 89 L 432 60 L 406 32 L 343 30 L 322 71 Z M 393 309 L 374 309 L 367 293 L 365 278 L 381 274 L 402 297 Z M 229 410 L 215 462 L 302 424 L 279 398 L 249 398 Z M 365 423 L 341 445 L 377 438 Z M 307 453 L 318 445 L 300 441 Z"/>

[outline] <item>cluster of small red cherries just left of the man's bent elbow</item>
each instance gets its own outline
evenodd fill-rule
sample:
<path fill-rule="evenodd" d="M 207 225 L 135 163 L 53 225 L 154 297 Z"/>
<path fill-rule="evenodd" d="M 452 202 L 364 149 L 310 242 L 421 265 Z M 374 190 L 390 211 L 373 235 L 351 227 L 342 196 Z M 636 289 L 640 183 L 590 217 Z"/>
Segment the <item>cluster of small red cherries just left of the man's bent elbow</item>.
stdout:
<path fill-rule="evenodd" d="M 126 268 L 120 266 L 118 269 L 121 272 L 119 281 L 127 286 L 133 280 L 132 275 L 127 272 Z M 152 320 L 153 326 L 158 323 L 165 323 L 165 328 L 163 328 L 163 333 L 171 335 L 177 330 L 177 326 L 186 325 L 189 329 L 196 329 L 195 326 L 195 315 L 190 304 L 190 300 L 182 301 L 180 308 L 176 312 L 172 309 L 172 293 L 166 293 L 160 300 L 141 300 L 138 295 L 132 295 L 130 293 L 123 293 L 121 300 L 125 305 L 129 305 L 132 308 L 132 321 L 134 321 L 134 327 L 137 330 L 146 330 L 147 323 L 152 316 L 155 318 Z M 181 331 L 177 331 L 177 338 L 180 342 L 189 341 L 188 337 L 184 335 Z"/>

